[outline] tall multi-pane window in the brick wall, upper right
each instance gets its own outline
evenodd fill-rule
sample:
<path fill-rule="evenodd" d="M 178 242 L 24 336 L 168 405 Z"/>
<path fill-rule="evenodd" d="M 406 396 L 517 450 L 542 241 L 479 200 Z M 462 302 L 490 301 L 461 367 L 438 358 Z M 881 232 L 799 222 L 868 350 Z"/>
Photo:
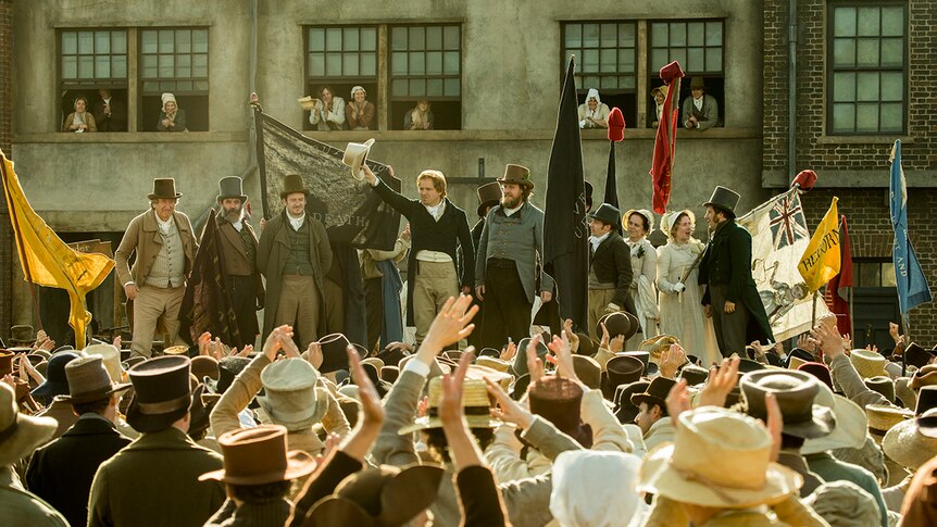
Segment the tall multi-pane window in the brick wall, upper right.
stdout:
<path fill-rule="evenodd" d="M 836 2 L 829 9 L 827 129 L 835 135 L 904 131 L 903 2 Z"/>

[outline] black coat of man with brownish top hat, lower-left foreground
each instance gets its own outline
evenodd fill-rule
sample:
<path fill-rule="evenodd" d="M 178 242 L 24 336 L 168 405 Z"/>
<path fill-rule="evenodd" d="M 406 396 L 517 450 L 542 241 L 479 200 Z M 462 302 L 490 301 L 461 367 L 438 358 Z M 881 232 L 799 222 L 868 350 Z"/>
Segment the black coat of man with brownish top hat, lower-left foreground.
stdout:
<path fill-rule="evenodd" d="M 71 525 L 88 522 L 88 495 L 101 463 L 130 444 L 113 424 L 79 418 L 65 434 L 33 454 L 26 487 L 55 507 Z"/>

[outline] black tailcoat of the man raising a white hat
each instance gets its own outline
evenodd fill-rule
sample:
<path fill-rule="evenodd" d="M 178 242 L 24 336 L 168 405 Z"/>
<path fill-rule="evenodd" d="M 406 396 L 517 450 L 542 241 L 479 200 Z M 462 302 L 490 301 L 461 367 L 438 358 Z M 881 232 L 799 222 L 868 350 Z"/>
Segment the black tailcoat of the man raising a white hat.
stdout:
<path fill-rule="evenodd" d="M 469 219 L 465 211 L 443 198 L 446 209 L 437 222 L 420 200 L 411 200 L 393 191 L 384 181 L 379 181 L 374 190 L 397 212 L 410 221 L 411 244 L 407 260 L 407 324 L 413 325 L 413 286 L 416 278 L 416 254 L 423 250 L 439 251 L 449 254 L 460 287 L 475 287 L 475 246 L 469 230 Z M 462 268 L 459 267 L 458 248 L 462 249 Z"/>

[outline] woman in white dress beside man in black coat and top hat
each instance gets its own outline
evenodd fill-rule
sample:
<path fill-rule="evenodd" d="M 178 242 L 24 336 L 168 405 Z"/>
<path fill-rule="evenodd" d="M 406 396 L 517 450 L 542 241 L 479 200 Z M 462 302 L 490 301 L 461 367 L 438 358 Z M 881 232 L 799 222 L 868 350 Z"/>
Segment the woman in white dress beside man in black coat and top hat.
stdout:
<path fill-rule="evenodd" d="M 689 210 L 669 212 L 661 217 L 661 230 L 667 244 L 658 249 L 658 289 L 661 292 L 661 332 L 680 339 L 687 353 L 709 367 L 722 355 L 715 341 L 712 319 L 703 315 L 700 304 L 702 286 L 699 266 L 690 271 L 703 243 L 692 237 L 696 216 Z"/>

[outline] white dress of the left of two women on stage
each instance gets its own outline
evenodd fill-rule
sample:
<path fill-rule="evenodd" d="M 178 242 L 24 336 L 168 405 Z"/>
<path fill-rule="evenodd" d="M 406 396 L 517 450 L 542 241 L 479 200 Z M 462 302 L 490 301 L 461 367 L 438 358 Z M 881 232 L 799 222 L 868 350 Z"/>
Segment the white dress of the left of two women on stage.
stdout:
<path fill-rule="evenodd" d="M 625 343 L 625 351 L 640 350 L 641 340 L 657 337 L 658 331 L 658 291 L 654 281 L 658 275 L 658 252 L 647 237 L 638 241 L 625 240 L 632 250 L 632 298 L 635 313 L 641 322 L 641 332 Z"/>

